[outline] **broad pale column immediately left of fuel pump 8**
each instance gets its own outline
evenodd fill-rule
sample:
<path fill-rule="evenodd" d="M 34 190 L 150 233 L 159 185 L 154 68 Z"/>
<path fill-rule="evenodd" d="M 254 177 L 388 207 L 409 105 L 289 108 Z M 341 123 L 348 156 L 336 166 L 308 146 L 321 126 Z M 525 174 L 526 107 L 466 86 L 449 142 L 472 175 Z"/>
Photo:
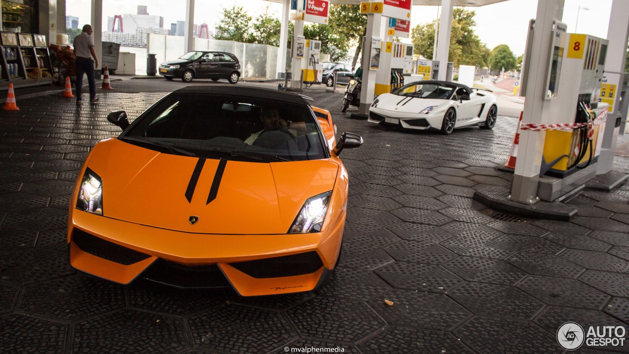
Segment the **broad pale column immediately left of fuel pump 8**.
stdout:
<path fill-rule="evenodd" d="M 561 21 L 564 12 L 564 0 L 538 1 L 535 31 L 533 31 L 533 45 L 527 79 L 526 101 L 522 124 L 544 124 L 550 118 L 548 106 L 552 100 L 544 100 L 546 91 L 546 74 L 548 60 L 552 55 L 550 44 L 552 40 L 553 20 Z M 542 165 L 542 154 L 546 132 L 521 130 L 518 159 L 515 164 L 513 183 L 511 185 L 511 200 L 532 204 L 537 202 L 537 186 Z"/>

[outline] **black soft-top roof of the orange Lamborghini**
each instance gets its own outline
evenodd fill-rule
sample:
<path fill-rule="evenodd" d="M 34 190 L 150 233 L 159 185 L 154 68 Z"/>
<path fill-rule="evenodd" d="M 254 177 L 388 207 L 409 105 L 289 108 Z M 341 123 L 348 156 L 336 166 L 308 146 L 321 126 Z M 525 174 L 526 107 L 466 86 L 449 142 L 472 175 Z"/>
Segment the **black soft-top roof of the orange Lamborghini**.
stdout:
<path fill-rule="evenodd" d="M 253 86 L 245 86 L 242 84 L 214 84 L 203 86 L 186 86 L 185 88 L 173 91 L 173 93 L 194 93 L 194 94 L 221 94 L 228 96 L 241 96 L 252 98 L 267 98 L 269 100 L 285 101 L 289 103 L 308 103 L 299 94 L 294 94 L 277 89 L 259 88 Z"/>

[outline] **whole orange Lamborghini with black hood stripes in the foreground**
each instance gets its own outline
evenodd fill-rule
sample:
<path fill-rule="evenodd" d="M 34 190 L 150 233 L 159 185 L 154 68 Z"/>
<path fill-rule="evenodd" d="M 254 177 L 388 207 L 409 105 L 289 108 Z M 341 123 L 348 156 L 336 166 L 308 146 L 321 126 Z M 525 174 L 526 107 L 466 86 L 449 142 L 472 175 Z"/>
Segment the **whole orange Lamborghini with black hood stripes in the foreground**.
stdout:
<path fill-rule="evenodd" d="M 340 256 L 347 171 L 362 144 L 298 94 L 180 89 L 94 146 L 70 200 L 70 265 L 238 294 L 312 290 Z"/>

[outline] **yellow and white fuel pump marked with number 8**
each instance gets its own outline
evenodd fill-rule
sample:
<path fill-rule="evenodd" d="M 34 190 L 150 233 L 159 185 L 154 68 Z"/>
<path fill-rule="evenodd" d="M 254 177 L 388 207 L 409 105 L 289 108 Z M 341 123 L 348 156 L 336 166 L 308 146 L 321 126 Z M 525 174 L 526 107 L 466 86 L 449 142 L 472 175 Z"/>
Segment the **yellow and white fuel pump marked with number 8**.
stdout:
<path fill-rule="evenodd" d="M 556 38 L 545 100 L 557 100 L 551 108 L 557 123 L 546 127 L 540 174 L 565 178 L 595 163 L 601 151 L 608 105 L 599 97 L 607 94 L 601 81 L 608 40 L 576 33 Z"/>

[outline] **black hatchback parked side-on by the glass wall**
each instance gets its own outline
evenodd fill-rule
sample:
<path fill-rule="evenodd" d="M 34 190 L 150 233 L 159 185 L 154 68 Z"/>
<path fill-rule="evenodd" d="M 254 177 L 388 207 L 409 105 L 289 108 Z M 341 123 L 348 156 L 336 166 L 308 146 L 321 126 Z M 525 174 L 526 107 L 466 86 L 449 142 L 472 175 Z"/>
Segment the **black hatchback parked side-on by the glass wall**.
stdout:
<path fill-rule="evenodd" d="M 235 84 L 240 78 L 240 62 L 231 53 L 195 50 L 179 59 L 163 62 L 159 66 L 159 74 L 167 80 L 181 77 L 184 83 L 192 79 L 227 79 L 230 84 Z"/>

